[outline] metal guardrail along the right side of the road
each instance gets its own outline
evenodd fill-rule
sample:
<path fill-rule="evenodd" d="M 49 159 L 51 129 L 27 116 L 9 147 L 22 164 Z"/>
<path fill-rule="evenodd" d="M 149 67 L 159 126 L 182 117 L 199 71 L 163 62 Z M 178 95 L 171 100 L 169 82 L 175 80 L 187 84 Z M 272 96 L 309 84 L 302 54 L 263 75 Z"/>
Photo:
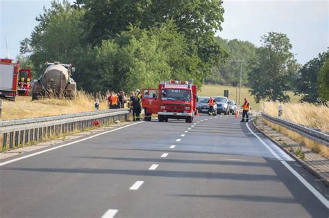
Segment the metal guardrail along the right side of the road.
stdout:
<path fill-rule="evenodd" d="M 295 131 L 296 133 L 301 134 L 302 136 L 310 138 L 311 140 L 314 140 L 318 143 L 329 146 L 329 135 L 328 134 L 325 134 L 321 131 L 317 131 L 314 129 L 304 127 L 302 125 L 298 125 L 294 122 L 289 122 L 287 120 L 283 120 L 282 118 L 275 118 L 275 117 L 269 116 L 267 113 L 264 113 L 264 112 L 262 112 L 262 117 L 271 122 L 276 123 L 277 125 L 281 125 L 282 127 Z"/>

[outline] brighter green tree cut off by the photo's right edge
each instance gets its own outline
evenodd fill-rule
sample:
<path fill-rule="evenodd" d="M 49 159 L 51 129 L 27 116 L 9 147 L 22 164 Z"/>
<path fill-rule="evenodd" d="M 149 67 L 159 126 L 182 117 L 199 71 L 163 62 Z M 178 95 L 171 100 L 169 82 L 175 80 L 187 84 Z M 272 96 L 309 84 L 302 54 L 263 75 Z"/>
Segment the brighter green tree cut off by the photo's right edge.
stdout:
<path fill-rule="evenodd" d="M 326 61 L 319 71 L 318 77 L 319 97 L 323 102 L 329 101 L 329 54 L 326 54 Z"/>

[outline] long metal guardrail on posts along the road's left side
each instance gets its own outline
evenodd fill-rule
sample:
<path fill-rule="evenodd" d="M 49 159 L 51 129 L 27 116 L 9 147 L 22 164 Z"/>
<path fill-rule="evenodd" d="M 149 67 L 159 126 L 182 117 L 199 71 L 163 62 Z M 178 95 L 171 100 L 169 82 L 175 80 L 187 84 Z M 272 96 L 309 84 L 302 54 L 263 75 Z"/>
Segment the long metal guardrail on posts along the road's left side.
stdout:
<path fill-rule="evenodd" d="M 69 113 L 22 120 L 0 122 L 0 142 L 3 148 L 13 149 L 28 143 L 36 143 L 50 136 L 60 136 L 79 129 L 93 127 L 99 120 L 101 125 L 109 125 L 116 120 L 128 120 L 129 109 L 110 109 L 83 113 Z"/>

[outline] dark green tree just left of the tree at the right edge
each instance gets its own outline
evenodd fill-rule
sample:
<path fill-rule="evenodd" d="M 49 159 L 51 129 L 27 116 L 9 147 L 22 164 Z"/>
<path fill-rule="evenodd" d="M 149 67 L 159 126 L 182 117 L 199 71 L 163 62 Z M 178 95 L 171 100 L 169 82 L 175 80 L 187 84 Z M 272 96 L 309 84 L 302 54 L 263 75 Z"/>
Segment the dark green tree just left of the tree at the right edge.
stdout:
<path fill-rule="evenodd" d="M 301 96 L 302 102 L 322 102 L 319 97 L 320 80 L 318 75 L 323 62 L 326 61 L 326 55 L 326 53 L 320 53 L 318 57 L 314 57 L 312 60 L 304 64 L 298 71 L 295 94 Z"/>

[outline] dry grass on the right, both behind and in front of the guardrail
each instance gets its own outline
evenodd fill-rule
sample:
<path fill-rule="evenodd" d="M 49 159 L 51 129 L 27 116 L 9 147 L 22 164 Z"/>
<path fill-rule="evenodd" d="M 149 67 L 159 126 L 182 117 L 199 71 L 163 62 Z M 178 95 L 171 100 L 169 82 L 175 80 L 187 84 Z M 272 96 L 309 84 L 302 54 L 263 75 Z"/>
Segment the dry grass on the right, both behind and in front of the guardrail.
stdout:
<path fill-rule="evenodd" d="M 279 102 L 263 102 L 263 111 L 271 116 L 278 116 L 278 105 L 280 105 Z M 285 120 L 290 120 L 306 127 L 320 129 L 323 132 L 329 131 L 329 108 L 326 106 L 316 106 L 309 103 L 282 103 L 282 109 L 282 118 Z M 273 124 L 273 122 L 267 120 L 264 120 L 264 122 L 269 127 L 280 131 L 297 143 L 312 149 L 313 152 L 329 158 L 329 148 L 326 145 L 305 138 L 285 127 Z"/>

